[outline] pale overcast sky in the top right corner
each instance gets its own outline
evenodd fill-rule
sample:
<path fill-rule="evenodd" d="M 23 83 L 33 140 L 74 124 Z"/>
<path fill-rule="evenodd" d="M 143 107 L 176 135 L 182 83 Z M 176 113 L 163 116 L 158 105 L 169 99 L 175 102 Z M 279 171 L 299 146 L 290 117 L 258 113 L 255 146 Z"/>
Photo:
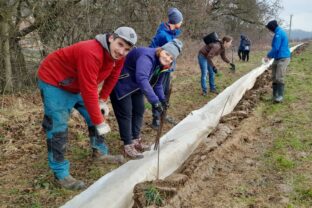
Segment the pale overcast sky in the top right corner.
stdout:
<path fill-rule="evenodd" d="M 284 7 L 279 17 L 284 20 L 283 27 L 288 29 L 292 14 L 292 29 L 312 32 L 312 0 L 281 0 Z"/>

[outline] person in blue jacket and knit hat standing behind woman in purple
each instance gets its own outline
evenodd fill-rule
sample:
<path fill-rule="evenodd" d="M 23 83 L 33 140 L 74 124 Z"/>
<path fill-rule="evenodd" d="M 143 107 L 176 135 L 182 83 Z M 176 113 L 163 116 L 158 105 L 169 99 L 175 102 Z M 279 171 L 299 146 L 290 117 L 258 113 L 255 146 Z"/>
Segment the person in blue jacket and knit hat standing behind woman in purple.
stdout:
<path fill-rule="evenodd" d="M 168 10 L 168 22 L 162 22 L 156 32 L 156 35 L 153 37 L 149 47 L 157 48 L 165 45 L 169 41 L 177 38 L 181 34 L 181 25 L 183 21 L 183 15 L 177 8 L 169 8 Z M 163 87 L 166 99 L 169 94 L 169 86 L 171 81 L 171 72 L 176 69 L 176 62 L 173 62 L 170 70 L 165 73 L 163 77 Z M 160 115 L 155 108 L 152 108 L 153 112 L 153 121 L 152 127 L 157 129 L 160 124 Z"/>

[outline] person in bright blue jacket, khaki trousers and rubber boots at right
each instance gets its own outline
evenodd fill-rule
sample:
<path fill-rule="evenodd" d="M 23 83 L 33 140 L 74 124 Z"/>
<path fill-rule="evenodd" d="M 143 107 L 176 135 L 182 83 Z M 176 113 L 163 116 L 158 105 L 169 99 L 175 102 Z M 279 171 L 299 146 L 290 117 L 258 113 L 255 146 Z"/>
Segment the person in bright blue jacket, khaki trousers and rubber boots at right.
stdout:
<path fill-rule="evenodd" d="M 278 26 L 276 20 L 270 21 L 266 27 L 274 33 L 274 37 L 272 40 L 272 49 L 268 52 L 264 60 L 267 62 L 270 59 L 274 59 L 272 64 L 273 102 L 280 103 L 284 97 L 284 78 L 290 62 L 288 37 L 286 32 Z"/>

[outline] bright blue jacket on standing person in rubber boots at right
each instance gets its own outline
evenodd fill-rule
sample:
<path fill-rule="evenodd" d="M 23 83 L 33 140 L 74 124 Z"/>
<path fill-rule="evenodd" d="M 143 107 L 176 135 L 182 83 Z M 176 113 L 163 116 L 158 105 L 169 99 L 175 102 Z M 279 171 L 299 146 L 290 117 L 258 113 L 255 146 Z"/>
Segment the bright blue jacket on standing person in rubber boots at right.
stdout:
<path fill-rule="evenodd" d="M 277 26 L 274 30 L 272 49 L 267 54 L 267 57 L 274 59 L 282 59 L 290 57 L 287 35 L 285 31 L 279 26 Z"/>

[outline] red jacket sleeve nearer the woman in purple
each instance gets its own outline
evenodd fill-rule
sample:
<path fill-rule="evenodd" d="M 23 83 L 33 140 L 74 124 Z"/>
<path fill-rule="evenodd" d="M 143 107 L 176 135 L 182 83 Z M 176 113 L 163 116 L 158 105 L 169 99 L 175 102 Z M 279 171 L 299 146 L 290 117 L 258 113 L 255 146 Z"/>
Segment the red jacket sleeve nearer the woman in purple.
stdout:
<path fill-rule="evenodd" d="M 101 92 L 100 92 L 100 98 L 103 100 L 107 100 L 108 96 L 112 92 L 113 88 L 115 87 L 118 77 L 121 73 L 121 69 L 123 67 L 125 59 L 116 61 L 116 65 L 112 70 L 112 73 L 105 79 L 104 84 L 102 86 Z"/>

